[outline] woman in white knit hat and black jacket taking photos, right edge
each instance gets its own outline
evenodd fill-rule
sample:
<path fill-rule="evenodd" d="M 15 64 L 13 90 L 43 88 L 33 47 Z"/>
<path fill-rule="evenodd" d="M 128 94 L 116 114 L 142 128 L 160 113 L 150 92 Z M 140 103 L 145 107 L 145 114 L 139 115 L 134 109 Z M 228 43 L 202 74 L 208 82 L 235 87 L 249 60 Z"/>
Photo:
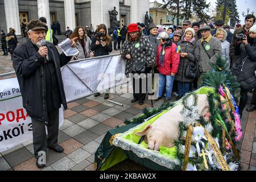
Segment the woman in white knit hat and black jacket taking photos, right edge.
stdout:
<path fill-rule="evenodd" d="M 237 76 L 240 83 L 239 113 L 242 117 L 242 111 L 247 103 L 247 92 L 256 86 L 256 25 L 250 28 L 249 36 L 237 37 L 234 54 L 237 59 L 234 60 L 232 73 Z"/>

